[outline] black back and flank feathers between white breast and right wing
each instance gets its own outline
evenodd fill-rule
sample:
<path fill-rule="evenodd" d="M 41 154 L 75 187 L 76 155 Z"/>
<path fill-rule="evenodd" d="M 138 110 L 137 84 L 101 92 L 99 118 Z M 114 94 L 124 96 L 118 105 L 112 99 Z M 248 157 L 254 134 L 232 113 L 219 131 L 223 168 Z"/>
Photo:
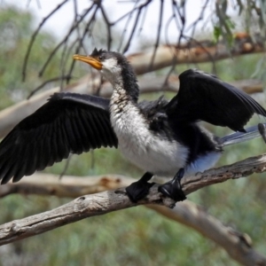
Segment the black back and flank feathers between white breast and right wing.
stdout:
<path fill-rule="evenodd" d="M 142 101 L 137 105 L 154 135 L 188 147 L 187 162 L 209 152 L 222 152 L 219 137 L 213 136 L 199 123 L 176 121 L 175 116 L 174 119 L 168 117 L 168 104 L 167 99 L 160 97 L 154 101 Z"/>

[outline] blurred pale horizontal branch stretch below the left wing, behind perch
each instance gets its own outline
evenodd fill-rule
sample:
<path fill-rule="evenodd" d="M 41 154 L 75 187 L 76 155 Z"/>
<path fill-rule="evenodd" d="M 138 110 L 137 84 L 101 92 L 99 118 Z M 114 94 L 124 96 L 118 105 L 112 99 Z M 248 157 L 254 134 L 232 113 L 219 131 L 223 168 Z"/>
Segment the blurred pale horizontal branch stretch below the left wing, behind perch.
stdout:
<path fill-rule="evenodd" d="M 128 186 L 135 181 L 134 178 L 119 175 L 63 176 L 59 179 L 59 176 L 35 173 L 33 176 L 25 176 L 19 183 L 0 186 L 0 198 L 12 193 L 76 198 Z"/>

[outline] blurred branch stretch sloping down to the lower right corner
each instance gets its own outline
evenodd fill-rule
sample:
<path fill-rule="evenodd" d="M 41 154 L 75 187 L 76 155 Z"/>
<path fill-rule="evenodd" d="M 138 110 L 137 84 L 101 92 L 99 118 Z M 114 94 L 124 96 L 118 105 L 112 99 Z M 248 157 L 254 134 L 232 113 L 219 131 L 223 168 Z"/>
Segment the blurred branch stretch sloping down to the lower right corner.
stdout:
<path fill-rule="evenodd" d="M 207 239 L 213 240 L 222 246 L 232 259 L 242 265 L 266 265 L 266 257 L 254 250 L 252 240 L 246 233 L 224 225 L 191 201 L 180 202 L 173 209 L 159 205 L 150 205 L 149 207 L 160 215 L 183 223 L 200 232 Z"/>

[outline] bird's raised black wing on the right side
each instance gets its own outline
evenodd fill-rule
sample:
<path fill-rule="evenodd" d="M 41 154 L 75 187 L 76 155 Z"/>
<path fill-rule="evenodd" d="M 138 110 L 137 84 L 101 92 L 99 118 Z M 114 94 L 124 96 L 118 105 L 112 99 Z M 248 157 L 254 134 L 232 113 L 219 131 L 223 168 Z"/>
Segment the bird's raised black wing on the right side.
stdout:
<path fill-rule="evenodd" d="M 242 90 L 215 76 L 197 70 L 186 70 L 179 76 L 180 89 L 167 106 L 174 121 L 207 121 L 243 131 L 254 113 L 266 116 L 265 109 Z"/>

